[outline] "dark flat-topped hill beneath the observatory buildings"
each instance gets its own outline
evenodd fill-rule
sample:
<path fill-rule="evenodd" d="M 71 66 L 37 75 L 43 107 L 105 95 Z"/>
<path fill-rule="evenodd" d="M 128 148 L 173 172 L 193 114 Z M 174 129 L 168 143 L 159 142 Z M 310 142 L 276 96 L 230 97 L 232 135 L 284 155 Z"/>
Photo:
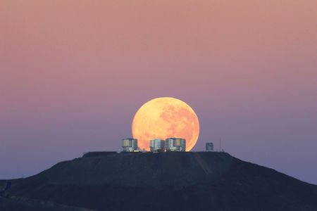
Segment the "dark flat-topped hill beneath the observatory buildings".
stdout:
<path fill-rule="evenodd" d="M 0 197 L 0 210 L 89 209 L 317 210 L 317 186 L 228 153 L 92 152 Z"/>

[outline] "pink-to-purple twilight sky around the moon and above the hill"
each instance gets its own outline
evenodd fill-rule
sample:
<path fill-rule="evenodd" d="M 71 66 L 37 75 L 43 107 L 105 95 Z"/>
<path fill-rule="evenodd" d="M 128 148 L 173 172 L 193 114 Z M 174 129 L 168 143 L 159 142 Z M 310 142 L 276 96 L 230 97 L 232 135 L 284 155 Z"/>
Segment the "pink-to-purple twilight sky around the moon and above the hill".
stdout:
<path fill-rule="evenodd" d="M 0 179 L 117 151 L 143 103 L 191 106 L 206 141 L 317 184 L 317 1 L 0 2 Z"/>

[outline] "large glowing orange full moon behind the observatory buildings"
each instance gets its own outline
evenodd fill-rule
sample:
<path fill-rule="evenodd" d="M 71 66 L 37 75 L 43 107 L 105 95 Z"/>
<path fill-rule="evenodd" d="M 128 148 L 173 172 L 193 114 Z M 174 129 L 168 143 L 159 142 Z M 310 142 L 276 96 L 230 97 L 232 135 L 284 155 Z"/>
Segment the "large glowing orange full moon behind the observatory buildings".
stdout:
<path fill-rule="evenodd" d="M 154 98 L 145 103 L 132 122 L 133 138 L 142 150 L 149 151 L 151 139 L 186 139 L 186 151 L 190 151 L 199 136 L 199 121 L 194 110 L 176 98 Z"/>

